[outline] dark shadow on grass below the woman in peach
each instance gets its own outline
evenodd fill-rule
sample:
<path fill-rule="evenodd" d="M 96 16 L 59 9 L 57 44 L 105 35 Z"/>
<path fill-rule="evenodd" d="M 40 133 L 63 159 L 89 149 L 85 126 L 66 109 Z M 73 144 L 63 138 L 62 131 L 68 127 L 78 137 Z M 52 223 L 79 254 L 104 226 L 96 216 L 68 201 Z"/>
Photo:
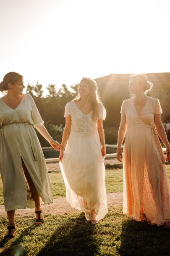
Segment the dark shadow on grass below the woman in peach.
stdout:
<path fill-rule="evenodd" d="M 169 256 L 170 230 L 137 222 L 122 222 L 120 256 Z"/>

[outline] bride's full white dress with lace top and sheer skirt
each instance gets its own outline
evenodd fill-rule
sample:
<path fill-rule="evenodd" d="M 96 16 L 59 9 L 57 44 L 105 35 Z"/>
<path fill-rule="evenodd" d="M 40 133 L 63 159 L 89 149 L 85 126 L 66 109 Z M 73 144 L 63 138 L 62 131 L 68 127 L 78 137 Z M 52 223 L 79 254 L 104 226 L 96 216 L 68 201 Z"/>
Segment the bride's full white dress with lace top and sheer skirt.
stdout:
<path fill-rule="evenodd" d="M 71 133 L 60 162 L 66 198 L 72 208 L 85 213 L 87 220 L 89 209 L 96 209 L 99 221 L 107 214 L 107 198 L 97 122 L 92 119 L 92 112 L 84 115 L 74 101 L 65 107 L 65 116 L 68 115 L 71 115 Z M 105 120 L 105 116 L 105 108 L 99 103 L 99 118 Z"/>

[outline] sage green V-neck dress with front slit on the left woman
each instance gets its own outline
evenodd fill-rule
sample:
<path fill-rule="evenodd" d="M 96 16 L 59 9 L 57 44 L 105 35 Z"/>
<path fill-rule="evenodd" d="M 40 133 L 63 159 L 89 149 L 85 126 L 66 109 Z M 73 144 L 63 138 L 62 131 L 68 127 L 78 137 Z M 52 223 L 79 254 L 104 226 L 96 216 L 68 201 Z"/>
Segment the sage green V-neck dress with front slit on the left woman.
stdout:
<path fill-rule="evenodd" d="M 34 127 L 43 125 L 30 94 L 24 94 L 16 109 L 0 98 L 0 173 L 5 211 L 34 208 L 27 197 L 23 159 L 42 203 L 52 203 L 52 188 L 44 155 Z"/>

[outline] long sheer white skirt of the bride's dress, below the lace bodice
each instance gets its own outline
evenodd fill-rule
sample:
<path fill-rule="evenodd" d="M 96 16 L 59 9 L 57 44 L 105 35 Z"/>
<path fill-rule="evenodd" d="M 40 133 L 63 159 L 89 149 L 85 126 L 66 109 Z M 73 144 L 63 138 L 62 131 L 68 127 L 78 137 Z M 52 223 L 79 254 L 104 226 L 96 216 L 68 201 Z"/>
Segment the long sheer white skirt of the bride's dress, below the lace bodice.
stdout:
<path fill-rule="evenodd" d="M 99 133 L 76 136 L 71 131 L 60 168 L 71 207 L 83 211 L 87 220 L 89 209 L 96 209 L 96 219 L 102 219 L 107 214 L 107 198 Z"/>

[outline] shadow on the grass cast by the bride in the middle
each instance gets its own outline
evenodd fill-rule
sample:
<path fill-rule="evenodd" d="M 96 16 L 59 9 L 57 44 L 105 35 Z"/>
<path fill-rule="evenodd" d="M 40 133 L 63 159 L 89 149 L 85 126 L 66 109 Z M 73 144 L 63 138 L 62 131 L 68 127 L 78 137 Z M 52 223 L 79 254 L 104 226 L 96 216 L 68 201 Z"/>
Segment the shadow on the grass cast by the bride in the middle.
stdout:
<path fill-rule="evenodd" d="M 95 229 L 81 213 L 58 227 L 37 255 L 94 256 L 98 251 L 98 243 L 94 239 Z"/>

